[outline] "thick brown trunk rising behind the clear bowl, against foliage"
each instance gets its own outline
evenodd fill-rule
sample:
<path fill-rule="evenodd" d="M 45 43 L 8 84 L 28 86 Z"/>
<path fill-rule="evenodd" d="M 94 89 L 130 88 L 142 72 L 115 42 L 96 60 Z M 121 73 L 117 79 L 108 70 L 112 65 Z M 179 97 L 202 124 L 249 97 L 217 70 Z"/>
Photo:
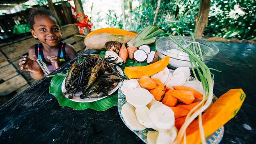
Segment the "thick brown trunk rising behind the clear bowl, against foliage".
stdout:
<path fill-rule="evenodd" d="M 204 28 L 208 24 L 208 14 L 210 11 L 210 0 L 200 0 L 198 12 L 198 26 L 196 29 L 196 38 L 202 38 Z"/>

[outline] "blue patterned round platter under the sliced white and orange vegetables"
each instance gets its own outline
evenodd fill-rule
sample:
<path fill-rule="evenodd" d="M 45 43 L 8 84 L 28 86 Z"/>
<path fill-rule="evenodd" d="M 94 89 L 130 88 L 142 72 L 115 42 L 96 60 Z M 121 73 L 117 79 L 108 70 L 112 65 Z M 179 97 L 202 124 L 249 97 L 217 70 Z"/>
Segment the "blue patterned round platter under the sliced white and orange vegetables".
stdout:
<path fill-rule="evenodd" d="M 169 69 L 170 70 L 170 69 Z M 172 74 L 174 72 L 174 70 L 170 70 L 170 73 Z M 195 78 L 190 76 L 190 80 L 196 80 Z M 120 115 L 120 118 L 122 119 L 122 121 L 124 122 L 124 124 L 126 125 L 124 118 L 121 114 L 121 108 L 122 106 L 127 102 L 125 95 L 122 93 L 121 90 L 122 85 L 120 86 L 120 88 L 118 89 L 118 103 L 117 103 L 117 108 L 118 108 L 118 113 Z M 217 97 L 215 95 L 213 95 L 213 102 L 217 99 Z M 126 125 L 127 126 L 127 125 Z M 129 128 L 129 126 L 127 126 Z M 132 130 L 131 128 L 129 128 L 132 132 L 134 132 L 134 134 L 136 134 L 143 142 L 145 142 L 146 144 L 148 143 L 147 141 L 147 134 L 148 131 L 155 131 L 151 128 L 146 128 L 145 130 Z M 206 138 L 206 142 L 207 144 L 218 144 L 220 143 L 222 137 L 224 134 L 224 126 L 221 126 L 218 130 L 216 130 L 212 135 L 208 136 Z"/>

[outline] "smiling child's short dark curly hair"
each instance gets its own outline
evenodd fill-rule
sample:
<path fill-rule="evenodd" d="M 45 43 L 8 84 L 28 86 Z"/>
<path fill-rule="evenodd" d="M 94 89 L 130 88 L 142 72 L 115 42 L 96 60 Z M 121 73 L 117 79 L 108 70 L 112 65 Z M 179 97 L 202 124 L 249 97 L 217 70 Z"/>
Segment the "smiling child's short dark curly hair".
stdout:
<path fill-rule="evenodd" d="M 38 16 L 38 15 L 52 16 L 56 20 L 57 25 L 60 25 L 60 20 L 52 12 L 50 12 L 44 8 L 33 8 L 32 10 L 30 10 L 29 16 L 27 18 L 28 25 L 31 29 L 33 29 L 33 25 L 35 24 L 34 18 L 35 18 L 35 16 Z"/>

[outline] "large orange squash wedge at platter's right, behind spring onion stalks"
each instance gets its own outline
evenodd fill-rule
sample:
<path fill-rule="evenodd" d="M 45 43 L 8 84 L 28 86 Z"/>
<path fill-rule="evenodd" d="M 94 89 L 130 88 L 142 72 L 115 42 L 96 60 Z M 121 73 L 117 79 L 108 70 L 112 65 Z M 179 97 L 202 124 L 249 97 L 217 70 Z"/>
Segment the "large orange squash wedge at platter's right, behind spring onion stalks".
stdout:
<path fill-rule="evenodd" d="M 242 89 L 231 89 L 220 96 L 202 115 L 205 137 L 210 136 L 220 126 L 223 126 L 231 118 L 236 116 L 245 97 L 246 95 Z M 201 143 L 198 120 L 194 120 L 186 129 L 186 140 L 187 144 Z"/>

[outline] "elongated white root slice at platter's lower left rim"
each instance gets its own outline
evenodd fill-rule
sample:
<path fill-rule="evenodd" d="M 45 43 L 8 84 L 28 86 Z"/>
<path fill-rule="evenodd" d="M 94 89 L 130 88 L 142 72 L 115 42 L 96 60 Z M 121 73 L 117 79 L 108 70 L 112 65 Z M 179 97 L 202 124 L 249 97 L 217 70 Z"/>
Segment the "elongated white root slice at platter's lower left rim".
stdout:
<path fill-rule="evenodd" d="M 135 114 L 135 108 L 132 105 L 130 105 L 129 103 L 126 103 L 122 106 L 121 114 L 122 114 L 127 126 L 129 126 L 132 130 L 145 130 L 146 129 L 145 126 L 142 126 L 138 122 L 136 114 Z"/>

